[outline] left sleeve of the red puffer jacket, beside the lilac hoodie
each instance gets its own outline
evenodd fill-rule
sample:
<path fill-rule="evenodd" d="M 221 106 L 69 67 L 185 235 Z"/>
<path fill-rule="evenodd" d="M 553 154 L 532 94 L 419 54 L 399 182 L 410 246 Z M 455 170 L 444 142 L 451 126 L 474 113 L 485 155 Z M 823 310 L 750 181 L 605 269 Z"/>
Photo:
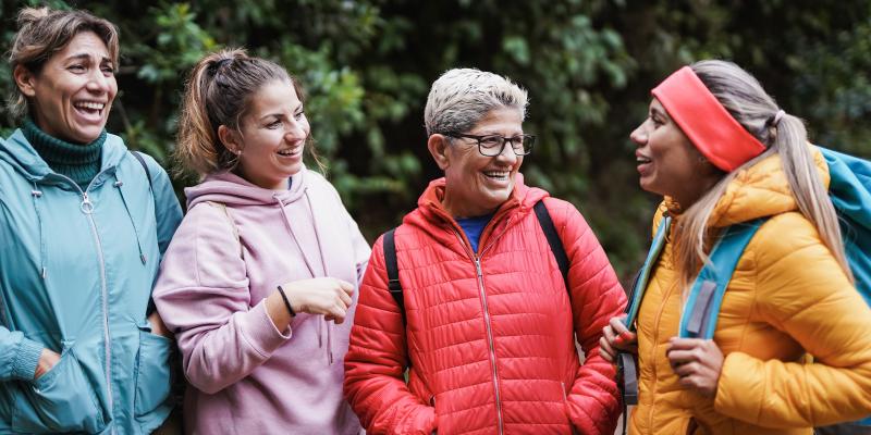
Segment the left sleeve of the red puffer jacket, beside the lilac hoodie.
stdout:
<path fill-rule="evenodd" d="M 406 337 L 398 306 L 387 286 L 381 238 L 360 286 L 345 356 L 345 397 L 369 434 L 430 435 L 436 410 L 405 385 Z"/>

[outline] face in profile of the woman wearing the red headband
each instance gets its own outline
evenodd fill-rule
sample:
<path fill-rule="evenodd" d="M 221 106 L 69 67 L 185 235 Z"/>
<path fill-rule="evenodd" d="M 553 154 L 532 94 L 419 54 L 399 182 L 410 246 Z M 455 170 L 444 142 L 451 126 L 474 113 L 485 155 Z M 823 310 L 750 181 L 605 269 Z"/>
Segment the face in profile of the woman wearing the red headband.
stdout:
<path fill-rule="evenodd" d="M 655 98 L 650 102 L 647 120 L 629 138 L 638 145 L 635 157 L 641 188 L 670 196 L 684 209 L 723 175 L 702 158 Z"/>

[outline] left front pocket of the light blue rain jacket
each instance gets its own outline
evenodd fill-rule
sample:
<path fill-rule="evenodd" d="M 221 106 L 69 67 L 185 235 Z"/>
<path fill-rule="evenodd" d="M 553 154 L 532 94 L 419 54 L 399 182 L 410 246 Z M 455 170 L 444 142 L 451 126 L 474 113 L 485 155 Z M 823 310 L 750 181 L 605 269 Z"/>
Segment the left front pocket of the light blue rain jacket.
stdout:
<path fill-rule="evenodd" d="M 65 341 L 63 348 L 61 359 L 51 370 L 15 389 L 13 431 L 97 433 L 106 427 L 94 386 L 75 358 L 72 343 Z"/>

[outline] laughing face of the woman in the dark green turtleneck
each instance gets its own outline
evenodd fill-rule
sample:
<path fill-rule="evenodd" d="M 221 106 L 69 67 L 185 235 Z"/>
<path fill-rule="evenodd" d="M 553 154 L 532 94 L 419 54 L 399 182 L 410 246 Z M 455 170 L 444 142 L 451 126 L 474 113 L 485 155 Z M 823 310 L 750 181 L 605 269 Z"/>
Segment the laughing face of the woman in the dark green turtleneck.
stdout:
<path fill-rule="evenodd" d="M 74 36 L 38 73 L 19 65 L 14 75 L 34 122 L 48 135 L 88 144 L 102 133 L 118 83 L 109 50 L 97 34 Z"/>

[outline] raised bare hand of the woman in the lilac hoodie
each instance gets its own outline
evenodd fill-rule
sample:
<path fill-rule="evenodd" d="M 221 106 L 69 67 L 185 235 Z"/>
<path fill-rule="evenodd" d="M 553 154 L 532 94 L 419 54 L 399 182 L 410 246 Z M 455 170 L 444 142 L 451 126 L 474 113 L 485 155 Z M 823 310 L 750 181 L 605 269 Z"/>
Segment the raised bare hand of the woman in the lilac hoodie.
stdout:
<path fill-rule="evenodd" d="M 295 312 L 323 314 L 336 324 L 345 321 L 354 295 L 353 284 L 332 277 L 294 281 L 282 287 Z"/>

